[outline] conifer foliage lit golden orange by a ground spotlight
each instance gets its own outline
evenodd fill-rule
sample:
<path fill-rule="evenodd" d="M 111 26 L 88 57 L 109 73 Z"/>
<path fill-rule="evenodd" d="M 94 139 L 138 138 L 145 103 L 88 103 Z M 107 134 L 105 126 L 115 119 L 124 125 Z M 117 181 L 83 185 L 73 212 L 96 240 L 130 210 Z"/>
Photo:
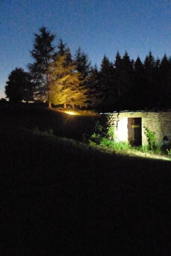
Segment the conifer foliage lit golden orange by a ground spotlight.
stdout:
<path fill-rule="evenodd" d="M 67 104 L 73 108 L 74 105 L 87 106 L 87 90 L 80 86 L 80 73 L 76 71 L 73 62 L 68 61 L 67 55 L 56 55 L 49 65 L 47 75 L 49 102 L 63 104 L 64 108 Z"/>

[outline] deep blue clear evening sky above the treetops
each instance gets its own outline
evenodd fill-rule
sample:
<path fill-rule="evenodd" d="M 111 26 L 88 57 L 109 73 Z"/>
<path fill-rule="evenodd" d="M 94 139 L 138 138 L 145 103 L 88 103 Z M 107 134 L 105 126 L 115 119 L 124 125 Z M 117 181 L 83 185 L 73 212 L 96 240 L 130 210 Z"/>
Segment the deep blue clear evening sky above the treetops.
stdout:
<path fill-rule="evenodd" d="M 0 0 L 0 98 L 8 74 L 32 61 L 33 33 L 42 25 L 72 53 L 80 46 L 93 65 L 104 54 L 114 61 L 117 50 L 141 60 L 149 50 L 171 55 L 170 0 Z"/>

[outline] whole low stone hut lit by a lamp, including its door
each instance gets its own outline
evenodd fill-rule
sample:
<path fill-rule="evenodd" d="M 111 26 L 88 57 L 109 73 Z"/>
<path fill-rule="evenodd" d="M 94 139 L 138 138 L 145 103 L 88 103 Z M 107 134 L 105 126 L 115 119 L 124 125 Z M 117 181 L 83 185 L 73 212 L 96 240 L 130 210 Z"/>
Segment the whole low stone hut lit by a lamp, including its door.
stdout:
<path fill-rule="evenodd" d="M 133 146 L 148 143 L 145 127 L 155 132 L 156 143 L 171 144 L 171 110 L 169 111 L 120 111 L 101 113 L 107 127 L 114 127 L 116 142 L 129 142 Z"/>

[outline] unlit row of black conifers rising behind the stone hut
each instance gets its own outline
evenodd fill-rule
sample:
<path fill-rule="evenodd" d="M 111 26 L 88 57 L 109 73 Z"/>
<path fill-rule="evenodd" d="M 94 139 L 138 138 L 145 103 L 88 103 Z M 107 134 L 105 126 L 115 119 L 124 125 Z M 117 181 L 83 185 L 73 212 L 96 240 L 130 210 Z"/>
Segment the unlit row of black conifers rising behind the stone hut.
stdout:
<path fill-rule="evenodd" d="M 127 52 L 116 54 L 114 62 L 104 55 L 100 70 L 92 69 L 90 87 L 96 106 L 102 111 L 171 108 L 171 59 L 155 59 L 152 52 L 144 62 L 134 61 Z M 92 101 L 91 104 L 94 102 Z"/>

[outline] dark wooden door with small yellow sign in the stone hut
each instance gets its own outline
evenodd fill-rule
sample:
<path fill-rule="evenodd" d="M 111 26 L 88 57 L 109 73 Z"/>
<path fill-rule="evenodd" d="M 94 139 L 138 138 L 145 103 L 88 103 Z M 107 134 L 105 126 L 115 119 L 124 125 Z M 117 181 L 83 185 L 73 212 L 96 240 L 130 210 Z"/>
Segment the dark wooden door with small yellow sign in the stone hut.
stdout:
<path fill-rule="evenodd" d="M 128 141 L 132 146 L 142 145 L 141 117 L 127 118 Z"/>

